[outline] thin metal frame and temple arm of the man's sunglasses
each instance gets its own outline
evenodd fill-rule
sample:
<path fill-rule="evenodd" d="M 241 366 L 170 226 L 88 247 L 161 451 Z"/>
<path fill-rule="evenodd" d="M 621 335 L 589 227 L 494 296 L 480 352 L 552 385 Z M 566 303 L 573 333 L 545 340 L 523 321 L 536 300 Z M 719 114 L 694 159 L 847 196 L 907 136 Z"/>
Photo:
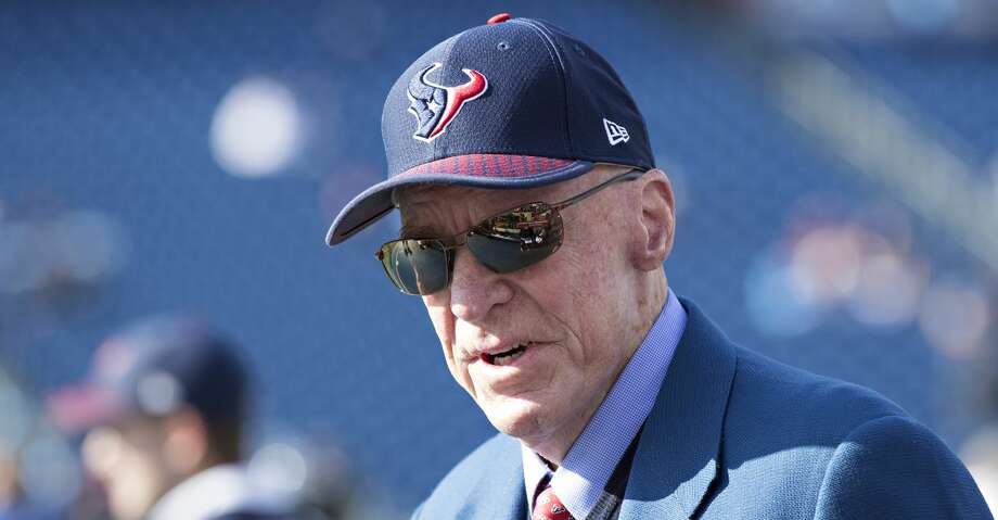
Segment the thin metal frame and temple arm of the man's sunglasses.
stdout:
<path fill-rule="evenodd" d="M 425 295 L 428 295 L 428 294 L 434 294 L 434 293 L 436 293 L 436 292 L 443 291 L 444 289 L 447 289 L 448 287 L 450 287 L 450 282 L 451 282 L 451 279 L 452 279 L 452 277 L 453 277 L 453 255 L 455 255 L 455 251 L 456 251 L 458 248 L 462 248 L 462 246 L 468 245 L 468 236 L 469 236 L 469 234 L 479 234 L 479 233 L 475 233 L 475 228 L 481 227 L 484 223 L 486 223 L 486 221 L 488 221 L 488 220 L 491 220 L 491 219 L 494 219 L 494 218 L 496 218 L 496 217 L 498 217 L 498 216 L 500 216 L 500 215 L 503 215 L 503 214 L 507 214 L 507 213 L 512 213 L 513 211 L 520 210 L 520 208 L 522 208 L 522 207 L 526 207 L 526 206 L 530 206 L 530 205 L 542 205 L 542 206 L 546 206 L 546 207 L 548 208 L 547 211 L 553 212 L 553 217 L 556 218 L 559 225 L 562 225 L 562 223 L 561 223 L 561 213 L 560 213 L 562 210 L 564 210 L 564 208 L 566 208 L 566 207 L 568 207 L 568 206 L 571 206 L 571 205 L 573 205 L 573 204 L 576 204 L 576 203 L 578 203 L 578 202 L 581 202 L 581 201 L 588 199 L 589 196 L 592 196 L 592 195 L 596 194 L 597 192 L 603 190 L 604 188 L 607 188 L 607 187 L 610 187 L 610 186 L 612 186 L 612 185 L 615 185 L 615 183 L 617 183 L 617 182 L 629 182 L 629 181 L 631 181 L 631 180 L 636 180 L 636 179 L 638 179 L 639 177 L 641 177 L 642 175 L 644 175 L 645 173 L 647 173 L 647 170 L 639 169 L 639 168 L 629 169 L 629 170 L 627 170 L 627 172 L 624 172 L 623 174 L 615 175 L 615 176 L 613 176 L 613 177 L 611 177 L 611 178 L 604 180 L 603 182 L 600 182 L 600 183 L 593 186 L 592 188 L 589 188 L 588 190 L 583 191 L 581 193 L 579 193 L 579 194 L 577 194 L 577 195 L 571 196 L 571 198 L 568 198 L 568 199 L 565 199 L 564 201 L 556 202 L 556 203 L 554 203 L 554 204 L 548 204 L 548 203 L 546 203 L 546 202 L 539 202 L 539 201 L 538 201 L 538 202 L 526 202 L 526 203 L 523 203 L 523 204 L 517 204 L 517 205 L 515 205 L 515 206 L 513 206 L 513 207 L 510 207 L 509 210 L 504 210 L 504 211 L 501 211 L 501 212 L 499 212 L 499 213 L 496 213 L 495 215 L 491 215 L 491 216 L 489 216 L 489 217 L 483 218 L 481 221 L 478 221 L 478 223 L 475 224 L 474 226 L 472 226 L 472 227 L 468 228 L 466 230 L 461 231 L 461 232 L 459 232 L 459 233 L 457 233 L 457 234 L 455 234 L 455 236 L 452 236 L 452 237 L 443 237 L 443 238 L 406 238 L 406 239 L 399 238 L 399 239 L 396 239 L 396 240 L 389 240 L 389 241 L 383 243 L 383 244 L 381 245 L 381 248 L 379 248 L 379 250 L 374 253 L 374 257 L 378 258 L 378 261 L 379 261 L 379 263 L 381 264 L 382 268 L 385 270 L 385 276 L 388 277 L 388 280 L 392 281 L 392 284 L 395 286 L 396 289 L 398 289 L 399 292 L 401 292 L 402 294 L 408 294 L 408 295 L 412 295 L 412 296 L 425 296 Z M 553 226 L 553 224 L 552 224 L 552 226 Z M 482 234 L 482 236 L 483 236 L 483 237 L 489 237 L 488 234 Z M 500 240 L 500 239 L 497 238 L 496 240 Z M 560 238 L 559 242 L 558 242 L 556 244 L 554 244 L 554 249 L 552 249 L 551 252 L 550 252 L 547 256 L 545 256 L 543 258 L 538 259 L 538 261 L 536 261 L 536 262 L 533 262 L 533 263 L 530 263 L 530 264 L 524 265 L 524 266 L 519 267 L 519 268 L 516 268 L 516 269 L 507 271 L 507 272 L 514 272 L 514 271 L 516 271 L 516 270 L 520 270 L 520 269 L 529 267 L 529 266 L 532 266 L 532 265 L 535 265 L 535 264 L 537 264 L 537 263 L 539 263 L 539 262 L 543 262 L 545 259 L 547 259 L 548 257 L 550 257 L 552 254 L 554 254 L 554 253 L 561 248 L 562 240 L 564 240 L 564 237 L 561 237 L 561 238 Z M 447 278 L 446 278 L 447 281 L 446 281 L 446 283 L 444 284 L 444 287 L 442 287 L 440 289 L 437 289 L 437 290 L 435 290 L 435 291 L 433 291 L 433 292 L 430 292 L 430 293 L 409 292 L 409 291 L 406 290 L 406 288 L 401 287 L 401 286 L 396 281 L 397 275 L 396 275 L 396 276 L 393 276 L 393 274 L 392 274 L 391 271 L 388 271 L 388 266 L 385 265 L 385 262 L 384 262 L 385 250 L 386 250 L 389 245 L 392 245 L 392 244 L 396 244 L 396 243 L 399 243 L 399 242 L 409 242 L 409 241 L 426 242 L 427 244 L 433 245 L 434 249 L 435 249 L 436 251 L 439 251 L 442 254 L 444 254 L 444 263 L 445 263 L 444 265 L 445 265 L 445 269 L 446 269 L 446 274 L 447 274 Z M 474 252 L 473 250 L 471 251 L 471 253 L 472 253 L 472 255 L 475 255 L 475 252 Z M 476 255 L 475 255 L 475 259 L 477 259 L 479 263 L 482 262 L 482 259 L 478 258 Z M 483 265 L 485 265 L 485 264 L 483 264 Z M 486 266 L 486 267 L 487 267 L 487 266 Z M 490 269 L 491 269 L 491 268 L 490 268 Z M 413 270 L 414 270 L 414 268 L 413 268 Z M 492 270 L 495 270 L 495 269 L 492 269 Z M 497 272 L 499 272 L 499 271 L 497 271 Z"/>

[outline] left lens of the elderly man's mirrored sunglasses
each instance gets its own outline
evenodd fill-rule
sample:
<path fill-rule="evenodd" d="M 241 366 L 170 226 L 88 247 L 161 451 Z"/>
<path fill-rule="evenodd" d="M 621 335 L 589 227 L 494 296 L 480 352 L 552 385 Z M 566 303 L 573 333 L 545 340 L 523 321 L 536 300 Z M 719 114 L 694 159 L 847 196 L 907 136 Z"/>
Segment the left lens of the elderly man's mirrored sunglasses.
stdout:
<path fill-rule="evenodd" d="M 381 246 L 388 279 L 408 294 L 433 294 L 449 282 L 447 252 L 438 240 L 395 240 Z"/>

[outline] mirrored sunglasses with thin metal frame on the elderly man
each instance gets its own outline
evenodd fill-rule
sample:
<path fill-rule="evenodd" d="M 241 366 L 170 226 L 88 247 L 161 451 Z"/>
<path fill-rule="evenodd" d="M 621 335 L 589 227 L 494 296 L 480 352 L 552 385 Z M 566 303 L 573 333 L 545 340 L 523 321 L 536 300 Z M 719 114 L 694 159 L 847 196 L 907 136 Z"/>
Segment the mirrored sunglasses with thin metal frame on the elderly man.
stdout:
<path fill-rule="evenodd" d="M 374 253 L 385 275 L 406 294 L 433 294 L 450 284 L 458 248 L 496 272 L 512 272 L 554 254 L 564 226 L 559 213 L 611 185 L 635 180 L 643 170 L 631 169 L 562 202 L 530 202 L 482 220 L 471 229 L 444 239 L 399 239 L 385 242 Z"/>

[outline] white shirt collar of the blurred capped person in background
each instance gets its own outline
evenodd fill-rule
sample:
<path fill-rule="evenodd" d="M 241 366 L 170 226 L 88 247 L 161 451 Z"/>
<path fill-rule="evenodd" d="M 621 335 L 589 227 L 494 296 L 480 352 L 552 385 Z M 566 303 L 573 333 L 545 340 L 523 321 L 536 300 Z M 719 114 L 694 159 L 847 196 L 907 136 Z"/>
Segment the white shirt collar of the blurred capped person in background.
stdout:
<path fill-rule="evenodd" d="M 291 496 L 254 485 L 244 468 L 208 468 L 166 492 L 150 510 L 149 520 L 209 520 L 238 511 L 280 512 L 293 507 Z"/>

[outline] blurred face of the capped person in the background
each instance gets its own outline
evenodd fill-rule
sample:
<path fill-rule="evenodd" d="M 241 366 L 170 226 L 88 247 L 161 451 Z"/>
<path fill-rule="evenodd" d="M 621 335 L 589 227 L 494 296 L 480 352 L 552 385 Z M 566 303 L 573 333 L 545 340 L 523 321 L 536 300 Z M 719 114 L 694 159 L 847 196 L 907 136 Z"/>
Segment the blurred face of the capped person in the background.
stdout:
<path fill-rule="evenodd" d="M 107 494 L 107 507 L 117 520 L 145 516 L 176 475 L 165 460 L 166 434 L 154 419 L 130 418 L 101 427 L 84 440 L 84 464 Z"/>

